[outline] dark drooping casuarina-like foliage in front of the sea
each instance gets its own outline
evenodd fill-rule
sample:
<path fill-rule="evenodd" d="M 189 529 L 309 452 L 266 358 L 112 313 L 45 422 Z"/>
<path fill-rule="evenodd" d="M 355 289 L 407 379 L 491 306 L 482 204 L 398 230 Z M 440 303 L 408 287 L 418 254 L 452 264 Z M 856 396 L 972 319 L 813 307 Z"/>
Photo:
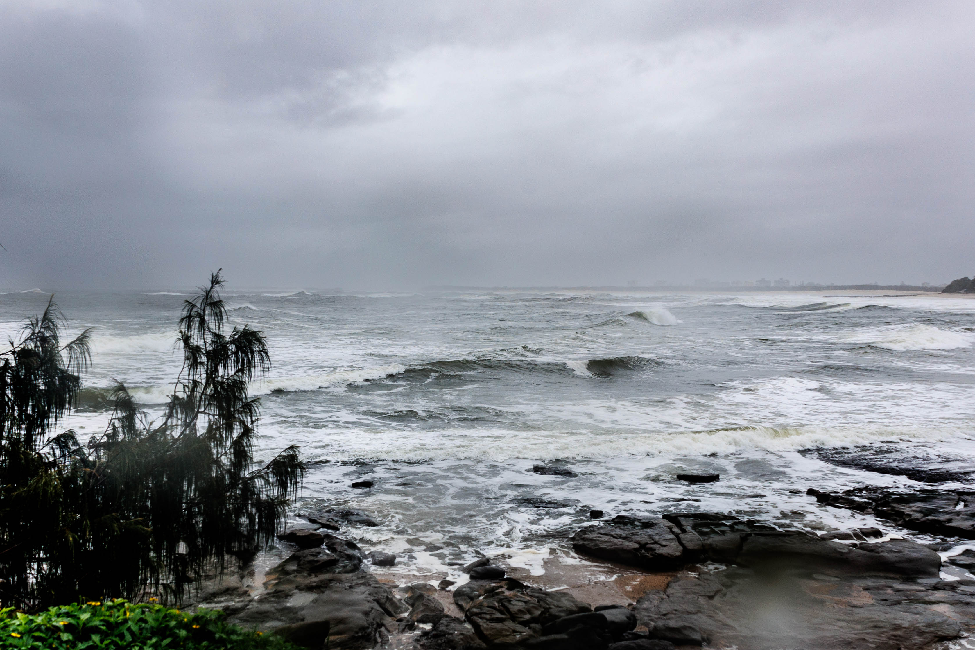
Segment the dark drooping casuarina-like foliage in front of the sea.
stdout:
<path fill-rule="evenodd" d="M 61 346 L 51 302 L 0 365 L 0 601 L 23 609 L 79 596 L 178 600 L 228 555 L 266 545 L 304 473 L 289 447 L 254 469 L 258 403 L 248 384 L 270 367 L 264 337 L 225 331 L 219 272 L 185 301 L 183 367 L 149 421 L 119 384 L 106 431 L 81 445 L 52 436 L 89 362 L 86 330 Z"/>

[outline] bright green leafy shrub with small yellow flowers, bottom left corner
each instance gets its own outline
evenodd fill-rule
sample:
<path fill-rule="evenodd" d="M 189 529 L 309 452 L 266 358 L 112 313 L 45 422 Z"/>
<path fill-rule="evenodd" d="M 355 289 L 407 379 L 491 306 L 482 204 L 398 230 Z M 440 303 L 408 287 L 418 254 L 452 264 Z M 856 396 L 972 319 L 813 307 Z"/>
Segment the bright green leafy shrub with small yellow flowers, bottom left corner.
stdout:
<path fill-rule="evenodd" d="M 52 607 L 39 614 L 0 610 L 0 649 L 297 650 L 274 634 L 223 621 L 223 612 L 187 614 L 128 600 Z"/>

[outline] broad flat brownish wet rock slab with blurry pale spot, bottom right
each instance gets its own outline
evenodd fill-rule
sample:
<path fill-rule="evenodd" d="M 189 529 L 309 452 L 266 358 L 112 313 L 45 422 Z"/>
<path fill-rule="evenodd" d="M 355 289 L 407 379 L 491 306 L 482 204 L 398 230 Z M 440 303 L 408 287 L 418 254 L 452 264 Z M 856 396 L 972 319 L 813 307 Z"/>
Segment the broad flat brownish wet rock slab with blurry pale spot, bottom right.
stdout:
<path fill-rule="evenodd" d="M 907 650 L 956 638 L 972 605 L 951 590 L 940 602 L 924 588 L 857 577 L 828 582 L 742 570 L 678 576 L 665 592 L 648 592 L 634 611 L 651 637 L 675 645 L 708 643 L 739 650 Z M 934 592 L 937 593 L 937 592 Z"/>

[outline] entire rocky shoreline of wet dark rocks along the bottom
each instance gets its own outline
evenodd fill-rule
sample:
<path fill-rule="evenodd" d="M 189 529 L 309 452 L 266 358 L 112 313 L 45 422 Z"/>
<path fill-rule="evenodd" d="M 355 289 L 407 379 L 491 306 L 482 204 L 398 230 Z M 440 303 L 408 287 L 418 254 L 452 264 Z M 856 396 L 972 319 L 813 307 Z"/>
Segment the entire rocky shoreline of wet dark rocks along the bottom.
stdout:
<path fill-rule="evenodd" d="M 639 589 L 611 598 L 549 591 L 487 558 L 463 567 L 470 580 L 459 584 L 383 577 L 393 555 L 332 534 L 375 521 L 335 511 L 288 531 L 282 546 L 293 552 L 263 575 L 226 577 L 197 604 L 331 650 L 961 647 L 946 643 L 975 631 L 975 546 L 960 546 L 975 539 L 975 492 L 808 494 L 943 541 L 871 527 L 815 534 L 724 513 L 615 516 L 566 531 L 579 557 L 629 567 Z"/>

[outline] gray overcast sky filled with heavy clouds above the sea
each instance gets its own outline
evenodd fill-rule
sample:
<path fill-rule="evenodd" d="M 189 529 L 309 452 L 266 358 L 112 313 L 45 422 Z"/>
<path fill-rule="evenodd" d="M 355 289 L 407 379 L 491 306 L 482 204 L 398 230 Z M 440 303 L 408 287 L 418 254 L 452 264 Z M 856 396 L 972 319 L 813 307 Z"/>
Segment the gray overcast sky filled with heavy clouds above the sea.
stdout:
<path fill-rule="evenodd" d="M 0 2 L 0 286 L 975 273 L 975 3 Z"/>

